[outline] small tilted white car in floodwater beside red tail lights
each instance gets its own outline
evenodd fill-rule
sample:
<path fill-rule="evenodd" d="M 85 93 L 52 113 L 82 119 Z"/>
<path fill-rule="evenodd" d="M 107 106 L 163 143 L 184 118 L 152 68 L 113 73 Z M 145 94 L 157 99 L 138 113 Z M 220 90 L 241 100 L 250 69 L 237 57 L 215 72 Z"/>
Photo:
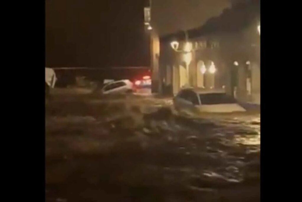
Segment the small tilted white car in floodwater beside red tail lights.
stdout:
<path fill-rule="evenodd" d="M 102 94 L 122 94 L 132 92 L 133 83 L 127 79 L 111 81 L 109 83 L 106 83 L 102 88 Z"/>

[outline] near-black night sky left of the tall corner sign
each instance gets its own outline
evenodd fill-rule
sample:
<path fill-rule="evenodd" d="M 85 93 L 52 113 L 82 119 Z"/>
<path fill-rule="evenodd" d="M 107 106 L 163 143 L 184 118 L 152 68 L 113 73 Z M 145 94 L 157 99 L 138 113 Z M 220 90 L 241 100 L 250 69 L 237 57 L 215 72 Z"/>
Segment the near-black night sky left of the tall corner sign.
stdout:
<path fill-rule="evenodd" d="M 47 67 L 150 66 L 149 0 L 47 0 Z"/>

